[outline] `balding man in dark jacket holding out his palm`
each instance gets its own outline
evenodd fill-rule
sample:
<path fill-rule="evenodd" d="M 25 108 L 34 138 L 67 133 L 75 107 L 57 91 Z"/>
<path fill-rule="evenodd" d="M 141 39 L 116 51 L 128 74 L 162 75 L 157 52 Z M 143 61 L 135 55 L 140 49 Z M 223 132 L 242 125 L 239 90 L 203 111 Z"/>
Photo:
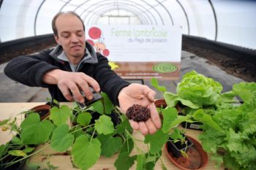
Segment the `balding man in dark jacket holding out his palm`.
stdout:
<path fill-rule="evenodd" d="M 114 104 L 126 112 L 132 104 L 147 106 L 151 119 L 132 128 L 142 134 L 154 134 L 161 121 L 154 106 L 154 90 L 146 85 L 129 84 L 118 77 L 108 65 L 108 59 L 85 42 L 83 20 L 75 12 L 59 12 L 52 21 L 53 34 L 59 44 L 53 50 L 31 56 L 13 58 L 4 69 L 11 79 L 29 86 L 48 88 L 57 101 L 83 103 L 83 91 L 89 100 L 93 97 L 89 86 L 96 92 L 107 93 Z"/>

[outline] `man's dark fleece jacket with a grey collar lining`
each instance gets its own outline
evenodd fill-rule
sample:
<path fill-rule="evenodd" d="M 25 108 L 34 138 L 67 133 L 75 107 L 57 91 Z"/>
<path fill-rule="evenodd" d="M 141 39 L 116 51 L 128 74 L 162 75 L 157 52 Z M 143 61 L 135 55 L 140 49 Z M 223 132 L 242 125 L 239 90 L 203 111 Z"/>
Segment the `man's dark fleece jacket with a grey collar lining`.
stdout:
<path fill-rule="evenodd" d="M 69 62 L 60 60 L 59 55 L 63 52 L 61 46 L 52 50 L 45 50 L 42 53 L 13 58 L 4 68 L 4 73 L 12 80 L 24 85 L 48 88 L 50 95 L 57 101 L 67 101 L 57 85 L 48 85 L 42 82 L 42 77 L 46 72 L 53 69 L 61 69 L 72 72 Z M 101 90 L 108 94 L 113 104 L 118 105 L 118 93 L 124 87 L 129 85 L 118 77 L 110 69 L 108 59 L 103 55 L 94 52 L 94 48 L 86 42 L 86 55 L 91 58 L 83 60 L 78 66 L 77 72 L 83 72 L 93 77 L 98 83 Z M 86 58 L 86 56 L 85 56 Z"/>

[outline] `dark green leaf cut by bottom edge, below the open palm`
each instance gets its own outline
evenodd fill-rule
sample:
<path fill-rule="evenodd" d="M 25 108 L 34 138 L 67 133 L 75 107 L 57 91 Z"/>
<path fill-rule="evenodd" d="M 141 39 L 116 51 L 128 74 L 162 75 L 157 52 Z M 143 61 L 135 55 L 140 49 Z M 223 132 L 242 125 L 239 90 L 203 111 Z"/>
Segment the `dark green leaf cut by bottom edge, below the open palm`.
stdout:
<path fill-rule="evenodd" d="M 116 159 L 115 166 L 117 170 L 129 170 L 135 163 L 136 155 L 129 157 L 128 152 L 121 152 Z"/>

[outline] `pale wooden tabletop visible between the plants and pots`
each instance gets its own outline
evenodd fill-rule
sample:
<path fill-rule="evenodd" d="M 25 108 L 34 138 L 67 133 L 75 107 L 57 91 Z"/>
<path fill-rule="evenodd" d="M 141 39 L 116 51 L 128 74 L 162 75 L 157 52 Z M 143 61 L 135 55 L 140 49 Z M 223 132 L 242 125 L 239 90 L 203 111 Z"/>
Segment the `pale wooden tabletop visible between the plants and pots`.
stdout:
<path fill-rule="evenodd" d="M 18 115 L 20 112 L 26 111 L 28 109 L 31 109 L 33 107 L 36 107 L 37 105 L 45 104 L 45 103 L 0 103 L 0 120 L 7 119 L 9 117 L 17 117 L 18 122 L 21 123 L 23 120 L 23 117 L 21 115 Z M 69 107 L 72 107 L 72 103 L 65 103 Z M 17 116 L 18 115 L 18 116 Z M 194 137 L 195 139 L 198 139 L 198 135 L 200 134 L 200 131 L 195 130 L 189 130 L 187 129 L 187 134 Z M 135 131 L 134 134 L 135 138 L 137 139 L 143 139 L 143 135 L 141 135 L 138 131 Z M 11 139 L 11 135 L 9 131 L 1 131 L 0 130 L 0 144 L 5 144 L 6 142 L 9 142 Z M 138 146 L 146 150 L 146 145 L 142 142 L 137 142 Z M 43 147 L 43 146 L 39 146 Z M 38 148 L 37 148 L 38 149 Z M 135 150 L 132 151 L 132 154 L 135 154 Z M 50 156 L 48 157 L 48 155 Z M 116 161 L 117 154 L 113 155 L 111 158 L 105 158 L 101 157 L 97 161 L 96 164 L 94 164 L 91 169 L 95 170 L 101 170 L 101 169 L 116 169 L 114 166 L 114 162 Z M 165 166 L 167 169 L 178 169 L 176 166 L 173 165 L 169 161 L 169 158 L 167 157 L 167 152 L 165 151 L 165 148 L 162 149 L 162 157 L 161 157 L 163 163 L 165 163 Z M 53 166 L 59 166 L 59 170 L 69 170 L 69 169 L 75 169 L 72 167 L 72 162 L 70 161 L 70 155 L 63 155 L 59 152 L 56 152 L 54 150 L 51 150 L 50 147 L 46 148 L 46 150 L 43 150 L 43 152 L 39 152 L 39 154 L 34 155 L 32 158 L 30 158 L 31 163 L 42 163 L 44 161 L 50 161 L 50 163 Z M 131 169 L 136 169 L 136 166 L 132 166 Z M 160 161 L 157 161 L 155 169 L 162 169 Z M 214 162 L 211 161 L 210 156 L 208 155 L 208 164 L 205 169 L 217 169 L 214 165 Z"/>

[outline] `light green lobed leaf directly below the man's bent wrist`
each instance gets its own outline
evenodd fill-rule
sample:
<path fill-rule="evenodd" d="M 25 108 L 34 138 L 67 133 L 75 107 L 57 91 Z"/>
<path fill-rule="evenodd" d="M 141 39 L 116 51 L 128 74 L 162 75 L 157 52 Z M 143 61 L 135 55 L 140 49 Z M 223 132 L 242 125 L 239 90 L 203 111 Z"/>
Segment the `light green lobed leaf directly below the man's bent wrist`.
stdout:
<path fill-rule="evenodd" d="M 50 120 L 53 120 L 53 123 L 57 126 L 67 123 L 67 120 L 71 115 L 72 111 L 67 105 L 62 105 L 60 108 L 53 107 L 50 109 Z"/>

